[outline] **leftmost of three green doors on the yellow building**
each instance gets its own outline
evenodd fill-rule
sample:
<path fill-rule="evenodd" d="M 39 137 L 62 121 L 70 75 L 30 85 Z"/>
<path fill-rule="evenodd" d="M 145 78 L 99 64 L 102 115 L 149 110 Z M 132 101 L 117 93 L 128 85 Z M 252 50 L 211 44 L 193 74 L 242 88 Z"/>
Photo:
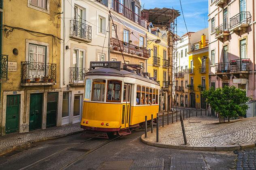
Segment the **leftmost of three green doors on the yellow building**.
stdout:
<path fill-rule="evenodd" d="M 19 131 L 19 95 L 7 95 L 5 133 Z"/>

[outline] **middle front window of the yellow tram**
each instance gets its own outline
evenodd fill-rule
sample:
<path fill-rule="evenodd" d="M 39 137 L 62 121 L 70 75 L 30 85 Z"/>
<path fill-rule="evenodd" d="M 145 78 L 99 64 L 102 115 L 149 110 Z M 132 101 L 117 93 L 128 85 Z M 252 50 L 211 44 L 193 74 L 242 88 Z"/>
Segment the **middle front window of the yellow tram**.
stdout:
<path fill-rule="evenodd" d="M 105 80 L 94 80 L 92 85 L 92 101 L 104 102 Z"/>

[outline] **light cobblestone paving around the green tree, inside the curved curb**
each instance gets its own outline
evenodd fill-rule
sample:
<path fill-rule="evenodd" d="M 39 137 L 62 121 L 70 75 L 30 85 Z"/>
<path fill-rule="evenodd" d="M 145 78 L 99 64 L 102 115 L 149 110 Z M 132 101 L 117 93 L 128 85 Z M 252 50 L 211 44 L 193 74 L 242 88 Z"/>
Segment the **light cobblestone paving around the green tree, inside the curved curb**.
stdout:
<path fill-rule="evenodd" d="M 191 117 L 184 120 L 190 146 L 226 146 L 254 143 L 256 141 L 256 118 L 230 120 L 219 124 L 218 118 L 209 116 Z M 148 133 L 146 141 L 156 142 L 156 131 Z M 159 143 L 184 145 L 181 123 L 160 127 Z"/>

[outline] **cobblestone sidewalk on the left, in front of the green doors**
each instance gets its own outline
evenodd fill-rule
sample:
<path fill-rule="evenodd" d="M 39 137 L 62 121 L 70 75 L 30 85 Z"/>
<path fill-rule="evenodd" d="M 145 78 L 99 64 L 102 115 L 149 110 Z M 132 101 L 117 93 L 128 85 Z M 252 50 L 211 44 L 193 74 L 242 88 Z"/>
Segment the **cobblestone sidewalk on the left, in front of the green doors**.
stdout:
<path fill-rule="evenodd" d="M 5 135 L 0 137 L 0 155 L 6 152 L 6 149 L 11 151 L 12 148 L 22 145 L 29 145 L 33 141 L 43 141 L 54 137 L 62 137 L 79 131 L 83 131 L 83 129 L 81 129 L 79 123 L 77 123 L 61 127 L 53 127 L 45 130 L 39 129 L 30 131 L 28 133 Z"/>

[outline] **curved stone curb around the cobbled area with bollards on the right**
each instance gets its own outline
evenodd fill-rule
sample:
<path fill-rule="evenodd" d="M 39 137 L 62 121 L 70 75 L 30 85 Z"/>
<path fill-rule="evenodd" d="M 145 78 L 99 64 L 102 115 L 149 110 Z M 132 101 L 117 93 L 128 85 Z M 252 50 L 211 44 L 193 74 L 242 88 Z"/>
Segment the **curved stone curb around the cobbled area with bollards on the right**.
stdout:
<path fill-rule="evenodd" d="M 246 143 L 240 145 L 226 145 L 226 146 L 186 146 L 186 145 L 167 145 L 156 142 L 149 142 L 145 140 L 145 134 L 141 135 L 141 141 L 146 145 L 162 147 L 168 149 L 179 149 L 179 150 L 194 150 L 194 151 L 235 151 L 250 149 L 256 147 L 256 143 Z"/>

